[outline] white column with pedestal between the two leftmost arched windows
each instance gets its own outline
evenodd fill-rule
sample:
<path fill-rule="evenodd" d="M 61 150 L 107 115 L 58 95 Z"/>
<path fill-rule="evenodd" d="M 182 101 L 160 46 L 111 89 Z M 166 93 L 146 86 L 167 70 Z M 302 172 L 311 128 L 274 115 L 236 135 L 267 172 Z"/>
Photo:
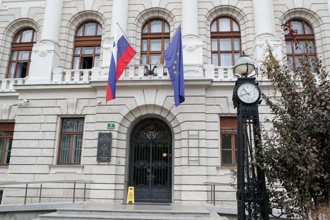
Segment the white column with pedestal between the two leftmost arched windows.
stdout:
<path fill-rule="evenodd" d="M 46 0 L 41 39 L 32 48 L 31 67 L 26 84 L 49 83 L 52 70 L 58 66 L 62 6 L 63 0 Z"/>

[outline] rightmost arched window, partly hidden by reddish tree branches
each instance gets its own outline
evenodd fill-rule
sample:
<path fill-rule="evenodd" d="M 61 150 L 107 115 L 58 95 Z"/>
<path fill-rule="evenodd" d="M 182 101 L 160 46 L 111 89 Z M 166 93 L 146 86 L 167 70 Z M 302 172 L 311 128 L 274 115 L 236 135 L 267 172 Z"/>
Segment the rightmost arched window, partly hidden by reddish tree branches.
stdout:
<path fill-rule="evenodd" d="M 289 67 L 291 69 L 299 67 L 299 58 L 306 56 L 313 70 L 315 61 L 312 60 L 315 60 L 316 50 L 314 33 L 311 26 L 301 19 L 289 20 L 286 24 L 293 30 L 297 30 L 297 34 L 294 37 L 297 41 L 297 46 L 295 45 L 294 39 L 288 35 L 288 30 L 284 32 L 285 50 Z"/>

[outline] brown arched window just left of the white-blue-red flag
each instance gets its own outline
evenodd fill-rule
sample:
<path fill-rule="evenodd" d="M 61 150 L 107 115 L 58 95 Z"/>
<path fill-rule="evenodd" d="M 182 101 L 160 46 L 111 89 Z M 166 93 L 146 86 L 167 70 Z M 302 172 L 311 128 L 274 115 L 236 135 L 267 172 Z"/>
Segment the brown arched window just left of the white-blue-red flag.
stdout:
<path fill-rule="evenodd" d="M 96 21 L 86 21 L 78 26 L 74 36 L 72 69 L 99 66 L 102 27 Z"/>

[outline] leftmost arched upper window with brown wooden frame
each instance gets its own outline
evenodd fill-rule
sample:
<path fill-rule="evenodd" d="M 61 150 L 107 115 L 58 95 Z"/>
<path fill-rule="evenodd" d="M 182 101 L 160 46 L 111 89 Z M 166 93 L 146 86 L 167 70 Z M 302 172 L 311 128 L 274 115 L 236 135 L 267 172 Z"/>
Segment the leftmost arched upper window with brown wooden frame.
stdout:
<path fill-rule="evenodd" d="M 11 43 L 11 54 L 7 78 L 24 78 L 31 62 L 31 50 L 36 41 L 36 31 L 32 28 L 19 30 Z"/>

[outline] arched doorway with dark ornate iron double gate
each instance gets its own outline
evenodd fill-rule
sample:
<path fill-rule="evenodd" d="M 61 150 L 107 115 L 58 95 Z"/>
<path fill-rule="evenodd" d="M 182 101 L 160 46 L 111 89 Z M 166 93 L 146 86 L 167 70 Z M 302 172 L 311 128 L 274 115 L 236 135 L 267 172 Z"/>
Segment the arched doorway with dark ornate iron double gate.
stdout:
<path fill-rule="evenodd" d="M 147 118 L 134 126 L 128 164 L 135 202 L 172 201 L 172 132 L 164 121 Z"/>

